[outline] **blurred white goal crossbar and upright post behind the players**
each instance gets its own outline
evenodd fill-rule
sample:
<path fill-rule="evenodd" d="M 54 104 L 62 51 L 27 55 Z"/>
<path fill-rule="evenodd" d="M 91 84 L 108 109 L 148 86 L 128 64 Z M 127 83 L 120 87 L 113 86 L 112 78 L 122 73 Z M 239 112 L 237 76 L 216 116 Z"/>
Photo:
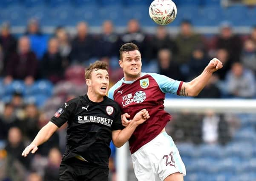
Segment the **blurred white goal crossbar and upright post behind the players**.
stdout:
<path fill-rule="evenodd" d="M 203 113 L 212 110 L 216 113 L 254 113 L 256 114 L 256 99 L 165 99 L 165 110 L 168 112 L 189 111 Z M 117 149 L 116 170 L 117 181 L 128 181 L 129 144 Z"/>

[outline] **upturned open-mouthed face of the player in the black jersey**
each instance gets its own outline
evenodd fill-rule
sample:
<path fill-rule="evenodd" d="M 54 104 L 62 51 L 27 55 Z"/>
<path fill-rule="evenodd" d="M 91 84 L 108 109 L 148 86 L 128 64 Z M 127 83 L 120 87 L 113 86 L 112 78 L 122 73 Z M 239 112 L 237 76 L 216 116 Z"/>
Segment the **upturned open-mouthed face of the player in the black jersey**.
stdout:
<path fill-rule="evenodd" d="M 87 79 L 88 80 L 88 79 Z M 95 95 L 105 96 L 109 88 L 109 74 L 106 70 L 92 71 L 88 87 Z M 89 91 L 89 90 L 88 90 Z"/>

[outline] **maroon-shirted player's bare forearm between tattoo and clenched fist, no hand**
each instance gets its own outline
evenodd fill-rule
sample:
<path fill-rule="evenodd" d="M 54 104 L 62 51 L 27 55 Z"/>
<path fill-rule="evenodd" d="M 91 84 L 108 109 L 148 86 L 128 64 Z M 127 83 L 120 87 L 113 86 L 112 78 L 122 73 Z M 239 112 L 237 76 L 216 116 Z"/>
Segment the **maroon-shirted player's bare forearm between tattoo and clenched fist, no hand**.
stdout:
<path fill-rule="evenodd" d="M 201 92 L 201 90 L 204 89 L 204 86 L 207 84 L 212 75 L 213 72 L 204 69 L 201 75 L 190 81 L 188 83 L 190 86 L 188 92 L 189 96 L 197 96 Z"/>

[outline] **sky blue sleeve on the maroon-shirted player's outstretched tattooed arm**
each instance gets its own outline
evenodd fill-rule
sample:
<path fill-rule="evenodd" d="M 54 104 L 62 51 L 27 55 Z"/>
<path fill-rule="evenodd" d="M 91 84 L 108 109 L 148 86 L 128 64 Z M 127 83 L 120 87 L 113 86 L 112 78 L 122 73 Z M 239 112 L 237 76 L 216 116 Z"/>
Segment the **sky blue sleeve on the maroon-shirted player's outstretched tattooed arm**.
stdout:
<path fill-rule="evenodd" d="M 161 91 L 163 91 L 164 93 L 171 93 L 177 95 L 177 91 L 181 84 L 181 81 L 175 81 L 165 75 L 160 75 L 156 73 L 149 73 L 149 75 L 151 75 L 155 79 Z"/>

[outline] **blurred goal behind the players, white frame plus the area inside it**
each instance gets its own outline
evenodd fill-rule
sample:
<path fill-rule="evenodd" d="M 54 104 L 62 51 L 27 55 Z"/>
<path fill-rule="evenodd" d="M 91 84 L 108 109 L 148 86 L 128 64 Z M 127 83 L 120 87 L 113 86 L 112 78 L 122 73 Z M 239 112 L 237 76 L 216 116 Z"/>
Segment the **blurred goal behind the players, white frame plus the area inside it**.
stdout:
<path fill-rule="evenodd" d="M 164 105 L 184 181 L 256 180 L 256 100 L 179 98 Z M 116 170 L 116 181 L 137 181 L 128 144 L 117 149 Z"/>

